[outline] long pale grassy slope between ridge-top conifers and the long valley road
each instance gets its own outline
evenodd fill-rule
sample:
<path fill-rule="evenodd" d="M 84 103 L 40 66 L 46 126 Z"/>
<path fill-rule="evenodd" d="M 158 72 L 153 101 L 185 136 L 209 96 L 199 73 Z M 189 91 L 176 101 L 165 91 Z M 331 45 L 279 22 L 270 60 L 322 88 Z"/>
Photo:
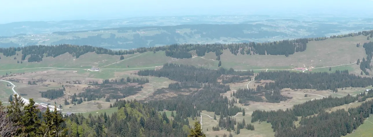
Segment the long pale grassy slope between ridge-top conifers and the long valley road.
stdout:
<path fill-rule="evenodd" d="M 310 41 L 307 49 L 304 52 L 294 53 L 289 57 L 283 55 L 233 55 L 229 50 L 224 50 L 221 55 L 222 66 L 225 68 L 235 68 L 241 70 L 248 69 L 292 69 L 295 67 L 324 67 L 335 66 L 355 62 L 358 58 L 366 57 L 364 48 L 356 47 L 356 43 L 364 43 L 365 36 L 344 37 L 336 39 L 327 39 L 321 41 Z M 57 56 L 56 58 L 43 58 L 43 61 L 17 63 L 21 58 L 19 55 L 5 57 L 0 55 L 1 70 L 21 69 L 21 68 L 37 68 L 37 67 L 56 67 L 56 68 L 79 68 L 86 69 L 91 66 L 97 66 L 106 69 L 133 69 L 153 66 L 162 66 L 164 63 L 183 63 L 195 66 L 204 66 L 207 68 L 217 68 L 218 61 L 213 52 L 206 53 L 203 57 L 195 57 L 191 59 L 176 59 L 164 55 L 163 51 L 153 53 L 136 53 L 133 55 L 125 55 L 124 61 L 119 61 L 120 56 L 97 55 L 95 53 L 87 53 L 79 58 L 72 57 L 68 53 Z M 192 54 L 195 55 L 194 51 Z M 140 56 L 138 56 L 140 55 Z M 16 57 L 17 59 L 13 59 Z M 131 58 L 133 57 L 133 58 Z M 26 57 L 27 59 L 28 57 Z M 129 58 L 129 59 L 128 59 Z M 114 63 L 114 64 L 112 64 Z M 112 65 L 110 65 L 112 64 Z M 106 66 L 109 65 L 109 66 Z M 105 67 L 103 67 L 105 66 Z M 128 67 L 127 67 L 128 66 Z M 336 69 L 348 69 L 355 74 L 360 74 L 357 65 L 337 66 L 332 68 L 332 72 Z M 35 70 L 27 70 L 35 71 Z M 313 71 L 324 72 L 329 71 L 329 68 L 319 68 Z M 4 73 L 3 71 L 1 71 Z M 10 72 L 10 71 L 9 71 Z M 20 71 L 24 72 L 24 71 Z M 109 73 L 112 73 L 108 71 Z M 94 72 L 96 73 L 96 72 Z M 101 76 L 98 76 L 101 77 Z M 97 78 L 98 78 L 97 77 Z"/>

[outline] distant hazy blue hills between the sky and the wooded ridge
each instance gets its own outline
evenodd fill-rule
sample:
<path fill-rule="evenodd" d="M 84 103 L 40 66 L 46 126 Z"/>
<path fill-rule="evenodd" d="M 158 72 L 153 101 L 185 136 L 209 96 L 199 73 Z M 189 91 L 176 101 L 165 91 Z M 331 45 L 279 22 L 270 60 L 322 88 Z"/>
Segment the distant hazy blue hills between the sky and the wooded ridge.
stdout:
<path fill-rule="evenodd" d="M 370 30 L 369 21 L 328 17 L 271 18 L 261 16 L 213 16 L 15 23 L 4 26 L 14 36 L 0 37 L 0 47 L 29 45 L 91 45 L 107 49 L 133 49 L 184 43 L 270 42 L 304 37 L 324 37 Z M 149 22 L 161 22 L 149 25 Z M 167 24 L 166 21 L 175 22 Z M 163 22 L 163 24 L 162 24 Z M 130 25 L 125 25 L 126 23 Z M 188 23 L 188 25 L 186 25 Z M 138 24 L 138 25 L 137 25 Z M 142 25 L 141 25 L 142 24 Z M 158 26 L 156 26 L 158 25 Z M 1 25 L 0 25 L 1 27 Z M 40 28 L 46 27 L 46 28 Z M 53 29 L 60 28 L 60 29 Z M 33 32 L 34 30 L 46 30 Z M 53 30 L 53 31 L 51 31 Z M 30 33 L 33 32 L 33 33 Z"/>

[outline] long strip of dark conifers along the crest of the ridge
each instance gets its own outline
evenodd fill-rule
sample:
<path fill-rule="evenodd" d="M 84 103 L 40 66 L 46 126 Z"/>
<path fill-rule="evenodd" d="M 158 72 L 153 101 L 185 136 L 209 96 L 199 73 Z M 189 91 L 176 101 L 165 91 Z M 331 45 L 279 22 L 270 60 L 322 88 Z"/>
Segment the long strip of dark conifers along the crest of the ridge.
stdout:
<path fill-rule="evenodd" d="M 0 48 L 0 52 L 4 56 L 16 55 L 16 51 L 22 50 L 22 61 L 27 60 L 28 62 L 40 62 L 44 57 L 56 57 L 62 55 L 63 53 L 70 53 L 76 58 L 79 56 L 88 53 L 95 52 L 97 54 L 109 54 L 109 55 L 126 55 L 134 53 L 143 53 L 143 52 L 157 52 L 165 51 L 166 56 L 173 58 L 192 58 L 192 50 L 195 50 L 198 56 L 204 56 L 205 53 L 215 52 L 217 60 L 220 59 L 220 55 L 224 49 L 229 49 L 229 51 L 234 54 L 242 55 L 285 55 L 289 56 L 295 52 L 305 51 L 307 48 L 307 43 L 310 40 L 325 40 L 328 38 L 341 38 L 341 37 L 350 37 L 350 36 L 359 36 L 364 35 L 370 37 L 370 34 L 373 34 L 373 30 L 363 31 L 358 33 L 349 33 L 346 35 L 330 36 L 330 37 L 316 37 L 316 38 L 303 38 L 303 39 L 294 39 L 294 40 L 282 40 L 275 42 L 265 42 L 265 43 L 232 43 L 232 44 L 173 44 L 167 46 L 158 46 L 158 47 L 143 47 L 131 50 L 110 50 L 93 46 L 76 46 L 76 45 L 55 45 L 55 46 L 25 46 L 25 47 L 13 47 L 13 48 Z M 364 48 L 367 50 L 367 54 L 371 48 L 369 48 L 370 43 L 364 44 Z M 26 59 L 26 56 L 30 55 Z M 372 54 L 368 54 L 372 55 Z M 368 57 L 369 58 L 369 57 Z M 371 57 L 370 57 L 371 59 Z M 365 63 L 363 63 L 365 64 Z M 368 66 L 368 65 L 366 65 Z M 364 66 L 365 67 L 365 66 Z M 365 67 L 367 68 L 367 67 Z"/>

